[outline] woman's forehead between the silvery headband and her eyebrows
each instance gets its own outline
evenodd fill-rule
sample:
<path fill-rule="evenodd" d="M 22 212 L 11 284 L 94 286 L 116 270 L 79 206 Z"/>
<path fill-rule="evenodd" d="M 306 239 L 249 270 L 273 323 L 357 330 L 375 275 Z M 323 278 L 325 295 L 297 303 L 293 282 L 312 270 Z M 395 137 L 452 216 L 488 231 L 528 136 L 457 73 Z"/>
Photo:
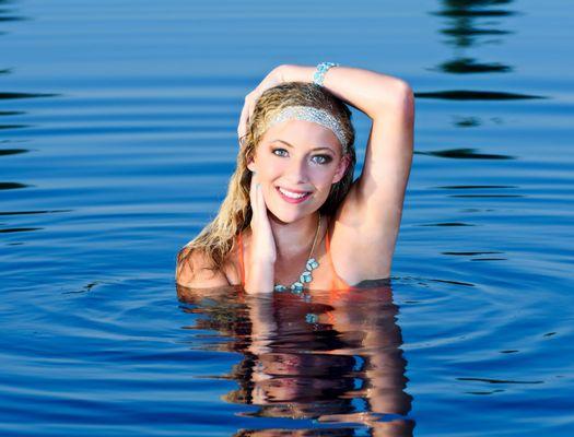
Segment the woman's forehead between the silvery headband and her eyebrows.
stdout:
<path fill-rule="evenodd" d="M 286 120 L 272 126 L 261 138 L 261 143 L 272 140 L 283 140 L 295 147 L 329 147 L 333 152 L 341 149 L 339 140 L 330 129 L 305 120 Z"/>

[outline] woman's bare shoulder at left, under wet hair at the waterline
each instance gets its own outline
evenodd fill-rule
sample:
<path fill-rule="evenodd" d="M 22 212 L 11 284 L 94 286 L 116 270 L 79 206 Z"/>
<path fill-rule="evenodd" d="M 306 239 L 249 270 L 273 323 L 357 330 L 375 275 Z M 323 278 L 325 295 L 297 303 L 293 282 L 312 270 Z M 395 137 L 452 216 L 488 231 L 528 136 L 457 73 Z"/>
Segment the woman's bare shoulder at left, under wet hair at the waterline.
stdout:
<path fill-rule="evenodd" d="M 212 288 L 230 285 L 222 269 L 214 268 L 202 250 L 189 247 L 184 247 L 177 253 L 175 281 L 177 284 L 189 288 Z"/>

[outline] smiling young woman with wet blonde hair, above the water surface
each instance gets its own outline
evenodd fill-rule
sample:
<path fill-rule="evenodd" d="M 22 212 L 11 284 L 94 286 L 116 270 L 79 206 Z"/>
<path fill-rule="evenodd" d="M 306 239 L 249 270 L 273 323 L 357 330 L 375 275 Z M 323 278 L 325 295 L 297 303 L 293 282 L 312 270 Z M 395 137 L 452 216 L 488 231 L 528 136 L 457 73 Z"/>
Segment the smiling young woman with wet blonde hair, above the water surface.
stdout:
<path fill-rule="evenodd" d="M 351 105 L 372 119 L 361 176 Z M 323 62 L 280 66 L 245 98 L 218 216 L 178 253 L 191 288 L 349 290 L 387 279 L 412 161 L 409 85 Z M 366 282 L 365 282 L 366 281 Z"/>

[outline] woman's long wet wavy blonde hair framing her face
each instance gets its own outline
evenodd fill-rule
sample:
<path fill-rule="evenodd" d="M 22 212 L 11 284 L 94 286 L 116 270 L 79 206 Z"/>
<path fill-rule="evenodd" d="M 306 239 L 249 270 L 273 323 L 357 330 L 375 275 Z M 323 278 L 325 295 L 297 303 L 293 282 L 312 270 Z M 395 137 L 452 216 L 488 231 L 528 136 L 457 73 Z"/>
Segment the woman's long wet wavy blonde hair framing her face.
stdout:
<path fill-rule="evenodd" d="M 194 249 L 199 249 L 204 256 L 210 264 L 210 270 L 215 271 L 223 265 L 233 249 L 235 236 L 244 231 L 251 220 L 249 202 L 251 172 L 247 168 L 247 164 L 255 156 L 256 147 L 271 119 L 281 109 L 300 105 L 329 111 L 339 120 L 344 132 L 349 165 L 342 179 L 331 186 L 329 197 L 319 211 L 325 215 L 330 215 L 337 210 L 351 187 L 356 162 L 353 147 L 355 132 L 351 123 L 351 111 L 340 98 L 321 86 L 304 82 L 282 83 L 265 91 L 258 98 L 247 126 L 247 133 L 242 139 L 242 147 L 237 154 L 237 167 L 231 177 L 227 196 L 215 218 L 177 255 L 178 270 L 184 267 L 184 263 L 189 262 L 189 256 Z"/>

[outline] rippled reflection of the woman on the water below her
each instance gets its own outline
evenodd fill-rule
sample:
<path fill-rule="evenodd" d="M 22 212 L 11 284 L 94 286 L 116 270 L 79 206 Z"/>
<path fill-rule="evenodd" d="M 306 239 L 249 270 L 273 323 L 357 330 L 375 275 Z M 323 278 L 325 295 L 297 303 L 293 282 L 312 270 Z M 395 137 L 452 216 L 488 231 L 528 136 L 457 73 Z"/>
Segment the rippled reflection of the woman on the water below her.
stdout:
<path fill-rule="evenodd" d="M 375 436 L 412 436 L 390 286 L 338 294 L 276 293 L 272 298 L 230 291 L 178 286 L 179 298 L 196 306 L 192 312 L 207 316 L 196 328 L 229 335 L 232 341 L 224 349 L 243 354 L 230 375 L 238 388 L 224 399 L 257 405 L 247 415 L 316 420 L 323 433 L 333 432 L 260 429 L 238 435 L 355 435 L 354 427 L 337 434 L 337 428 L 326 428 L 338 423 L 365 425 Z"/>

